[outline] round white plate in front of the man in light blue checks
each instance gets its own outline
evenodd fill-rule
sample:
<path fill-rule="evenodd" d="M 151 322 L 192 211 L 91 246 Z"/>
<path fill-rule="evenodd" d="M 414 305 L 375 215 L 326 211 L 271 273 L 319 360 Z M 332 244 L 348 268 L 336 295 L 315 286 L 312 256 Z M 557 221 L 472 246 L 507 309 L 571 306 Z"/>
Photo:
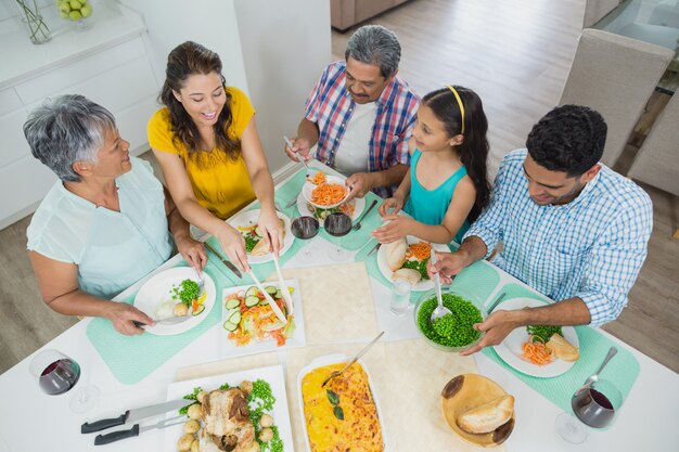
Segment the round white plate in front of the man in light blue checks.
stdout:
<path fill-rule="evenodd" d="M 523 308 L 536 308 L 545 306 L 546 302 L 536 300 L 535 298 L 512 298 L 509 299 L 496 308 L 503 310 L 515 310 Z M 578 335 L 573 326 L 562 326 L 561 331 L 566 340 L 568 340 L 574 347 L 579 348 Z M 538 378 L 549 378 L 559 376 L 567 372 L 576 361 L 564 361 L 559 358 L 554 358 L 554 361 L 547 365 L 537 365 L 529 363 L 521 358 L 523 351 L 521 346 L 528 340 L 528 333 L 526 327 L 522 326 L 512 331 L 502 341 L 502 344 L 495 346 L 495 351 L 498 352 L 502 361 L 514 367 L 522 374 L 530 375 Z"/>

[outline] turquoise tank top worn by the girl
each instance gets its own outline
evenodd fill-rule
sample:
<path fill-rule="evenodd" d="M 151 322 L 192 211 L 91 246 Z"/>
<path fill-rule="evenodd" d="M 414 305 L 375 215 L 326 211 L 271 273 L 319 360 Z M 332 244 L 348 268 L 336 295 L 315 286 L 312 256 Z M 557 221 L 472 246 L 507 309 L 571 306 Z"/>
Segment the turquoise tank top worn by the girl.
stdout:
<path fill-rule="evenodd" d="M 421 155 L 422 153 L 415 150 L 410 159 L 410 197 L 403 210 L 421 223 L 438 225 L 444 221 L 458 182 L 466 176 L 466 168 L 463 165 L 436 189 L 426 190 L 420 184 L 417 176 L 418 162 L 420 162 Z M 454 237 L 457 243 L 460 243 L 467 229 L 470 229 L 470 222 L 464 220 Z"/>

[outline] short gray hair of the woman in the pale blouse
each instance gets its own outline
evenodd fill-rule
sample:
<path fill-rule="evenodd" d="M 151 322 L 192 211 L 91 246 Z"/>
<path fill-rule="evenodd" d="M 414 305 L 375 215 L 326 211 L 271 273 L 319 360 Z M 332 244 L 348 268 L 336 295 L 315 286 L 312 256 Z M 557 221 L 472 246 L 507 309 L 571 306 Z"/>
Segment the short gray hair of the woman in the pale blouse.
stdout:
<path fill-rule="evenodd" d="M 33 156 L 62 181 L 79 182 L 76 162 L 97 162 L 104 134 L 115 129 L 115 118 L 103 106 L 78 94 L 48 99 L 24 124 L 24 135 Z"/>

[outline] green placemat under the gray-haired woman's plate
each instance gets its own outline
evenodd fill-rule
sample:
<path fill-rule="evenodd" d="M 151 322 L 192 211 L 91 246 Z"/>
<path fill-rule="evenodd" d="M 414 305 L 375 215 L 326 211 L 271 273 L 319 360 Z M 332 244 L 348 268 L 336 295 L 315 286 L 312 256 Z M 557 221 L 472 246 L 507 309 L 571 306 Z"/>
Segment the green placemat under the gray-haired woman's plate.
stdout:
<path fill-rule="evenodd" d="M 177 267 L 183 266 L 185 266 L 184 261 Z M 225 287 L 233 286 L 233 283 L 215 266 L 215 263 L 208 262 L 204 271 L 215 282 L 216 306 L 203 322 L 184 333 L 172 336 L 156 336 L 151 333 L 124 336 L 115 331 L 113 324 L 106 319 L 95 318 L 90 322 L 87 327 L 87 336 L 118 382 L 133 385 L 142 380 L 178 351 L 193 344 L 198 336 L 219 323 L 221 320 L 221 293 Z M 120 302 L 131 305 L 136 295 L 130 295 Z"/>

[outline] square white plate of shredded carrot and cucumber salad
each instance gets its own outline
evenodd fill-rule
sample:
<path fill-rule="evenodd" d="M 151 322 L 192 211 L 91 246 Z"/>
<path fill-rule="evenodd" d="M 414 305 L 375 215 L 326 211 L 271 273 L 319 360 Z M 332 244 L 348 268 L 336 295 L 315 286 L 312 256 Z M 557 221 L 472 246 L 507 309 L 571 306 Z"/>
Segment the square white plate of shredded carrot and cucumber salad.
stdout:
<path fill-rule="evenodd" d="M 304 347 L 304 312 L 297 280 L 285 280 L 291 290 L 292 310 L 287 309 L 278 282 L 264 282 L 264 288 L 287 317 L 283 324 L 256 285 L 225 288 L 221 297 L 219 335 L 222 357 L 238 357 L 272 351 L 280 348 Z"/>

